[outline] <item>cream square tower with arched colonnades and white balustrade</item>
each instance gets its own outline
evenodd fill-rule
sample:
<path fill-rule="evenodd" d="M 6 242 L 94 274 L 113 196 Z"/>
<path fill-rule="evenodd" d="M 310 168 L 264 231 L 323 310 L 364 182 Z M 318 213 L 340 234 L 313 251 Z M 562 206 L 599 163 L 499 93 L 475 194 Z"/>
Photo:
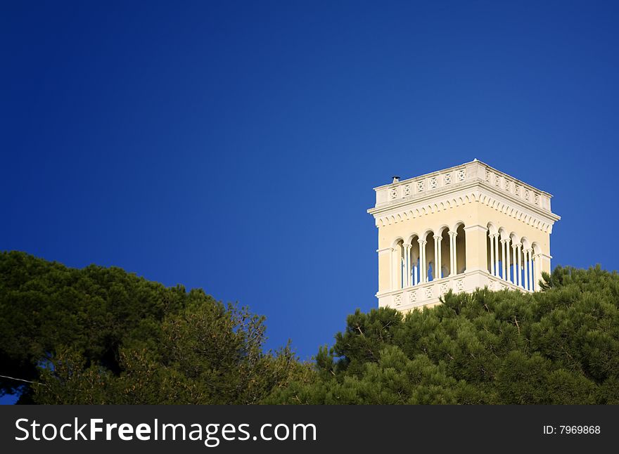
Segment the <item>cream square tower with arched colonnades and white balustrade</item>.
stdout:
<path fill-rule="evenodd" d="M 551 270 L 552 196 L 483 162 L 374 190 L 378 306 L 409 311 L 486 286 L 534 292 Z"/>

